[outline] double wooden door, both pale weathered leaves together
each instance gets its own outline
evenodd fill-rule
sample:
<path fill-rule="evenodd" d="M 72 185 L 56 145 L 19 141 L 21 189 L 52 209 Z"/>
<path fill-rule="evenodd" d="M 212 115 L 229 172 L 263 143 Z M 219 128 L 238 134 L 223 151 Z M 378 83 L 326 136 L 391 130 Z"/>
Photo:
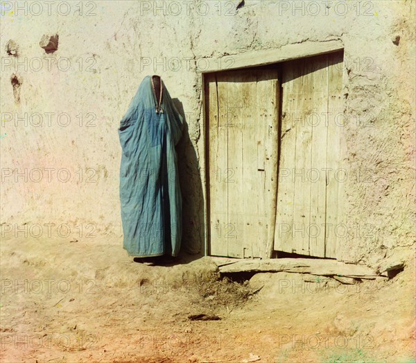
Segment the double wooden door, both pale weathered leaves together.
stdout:
<path fill-rule="evenodd" d="M 206 76 L 211 255 L 336 258 L 342 76 L 342 53 Z"/>

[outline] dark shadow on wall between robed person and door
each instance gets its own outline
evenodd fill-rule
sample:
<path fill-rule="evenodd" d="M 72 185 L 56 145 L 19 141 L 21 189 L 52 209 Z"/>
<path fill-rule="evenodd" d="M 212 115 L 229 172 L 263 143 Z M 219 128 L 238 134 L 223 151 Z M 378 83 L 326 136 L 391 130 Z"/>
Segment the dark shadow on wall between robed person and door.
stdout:
<path fill-rule="evenodd" d="M 182 103 L 172 99 L 184 119 L 184 130 L 177 144 L 177 164 L 182 192 L 182 246 L 183 252 L 202 257 L 204 255 L 205 215 L 202 180 L 197 153 L 188 133 L 188 123 Z"/>

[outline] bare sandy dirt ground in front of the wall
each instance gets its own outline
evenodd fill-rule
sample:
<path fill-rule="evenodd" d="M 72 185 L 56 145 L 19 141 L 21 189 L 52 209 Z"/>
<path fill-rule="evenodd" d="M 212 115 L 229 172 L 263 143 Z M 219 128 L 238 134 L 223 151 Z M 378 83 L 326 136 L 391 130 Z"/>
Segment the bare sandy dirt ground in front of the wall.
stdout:
<path fill-rule="evenodd" d="M 358 285 L 239 283 L 218 280 L 211 258 L 146 266 L 111 241 L 4 239 L 1 362 L 415 362 L 410 261 Z"/>

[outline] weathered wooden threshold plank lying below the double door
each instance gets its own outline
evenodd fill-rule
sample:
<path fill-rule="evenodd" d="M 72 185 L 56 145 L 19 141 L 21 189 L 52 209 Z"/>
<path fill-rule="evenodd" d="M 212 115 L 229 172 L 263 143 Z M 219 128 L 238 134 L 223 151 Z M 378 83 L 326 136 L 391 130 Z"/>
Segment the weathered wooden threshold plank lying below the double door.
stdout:
<path fill-rule="evenodd" d="M 268 260 L 240 260 L 219 267 L 220 273 L 237 272 L 296 272 L 317 276 L 344 276 L 347 278 L 375 279 L 379 276 L 370 267 L 345 264 L 336 260 L 309 258 L 279 258 Z"/>

